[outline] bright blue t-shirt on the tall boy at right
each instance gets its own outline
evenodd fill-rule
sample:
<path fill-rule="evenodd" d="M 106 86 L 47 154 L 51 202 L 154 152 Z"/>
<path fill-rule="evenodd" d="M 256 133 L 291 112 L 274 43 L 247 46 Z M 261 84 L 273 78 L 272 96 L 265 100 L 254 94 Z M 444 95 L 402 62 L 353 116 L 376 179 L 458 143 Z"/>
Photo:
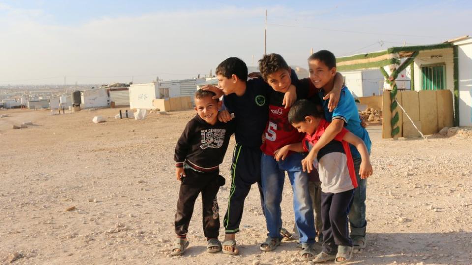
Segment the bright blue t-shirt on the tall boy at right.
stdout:
<path fill-rule="evenodd" d="M 332 122 L 334 119 L 341 119 L 344 121 L 344 127 L 352 132 L 357 137 L 361 138 L 365 146 L 367 147 L 367 151 L 370 154 L 370 147 L 372 146 L 372 142 L 370 141 L 369 133 L 367 130 L 360 125 L 360 118 L 359 112 L 357 111 L 357 106 L 355 105 L 355 100 L 351 91 L 344 86 L 341 89 L 341 95 L 339 97 L 338 106 L 333 110 L 333 112 L 329 112 L 328 109 L 328 102 L 329 99 L 323 100 L 323 89 L 320 89 L 319 96 L 323 103 L 323 112 L 324 117 L 328 122 Z M 357 148 L 354 145 L 349 145 L 351 148 L 351 154 L 353 159 L 360 158 L 360 153 L 357 151 Z"/>

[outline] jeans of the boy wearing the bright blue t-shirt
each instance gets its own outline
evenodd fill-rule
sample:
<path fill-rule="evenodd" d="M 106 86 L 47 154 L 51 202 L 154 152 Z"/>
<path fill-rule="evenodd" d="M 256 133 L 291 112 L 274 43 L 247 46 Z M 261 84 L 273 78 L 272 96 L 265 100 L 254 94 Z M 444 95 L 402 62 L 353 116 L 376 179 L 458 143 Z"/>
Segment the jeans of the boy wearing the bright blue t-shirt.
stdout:
<path fill-rule="evenodd" d="M 357 177 L 357 188 L 354 191 L 353 204 L 349 212 L 349 224 L 351 226 L 351 238 L 365 237 L 367 221 L 365 220 L 365 198 L 367 193 L 367 180 L 363 180 L 359 175 L 359 168 L 362 159 L 354 158 L 355 176 Z"/>

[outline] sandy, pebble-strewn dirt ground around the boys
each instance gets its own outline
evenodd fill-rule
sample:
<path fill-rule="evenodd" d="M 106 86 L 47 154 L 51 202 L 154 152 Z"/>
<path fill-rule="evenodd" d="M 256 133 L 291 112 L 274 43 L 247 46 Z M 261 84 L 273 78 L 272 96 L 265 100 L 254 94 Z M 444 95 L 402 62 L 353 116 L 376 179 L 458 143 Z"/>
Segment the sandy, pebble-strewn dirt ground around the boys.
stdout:
<path fill-rule="evenodd" d="M 8 115 L 0 118 L 0 264 L 307 264 L 295 241 L 259 250 L 266 225 L 256 186 L 236 236 L 241 255 L 205 252 L 198 199 L 187 252 L 168 257 L 179 187 L 174 147 L 194 111 L 145 120 L 117 113 L 0 110 Z M 107 122 L 92 123 L 96 115 Z M 34 125 L 12 129 L 25 121 Z M 352 263 L 472 264 L 472 140 L 382 140 L 380 126 L 368 129 L 368 242 Z M 227 180 L 233 146 L 221 166 Z M 218 193 L 221 219 L 229 185 Z M 285 187 L 284 226 L 292 228 Z"/>

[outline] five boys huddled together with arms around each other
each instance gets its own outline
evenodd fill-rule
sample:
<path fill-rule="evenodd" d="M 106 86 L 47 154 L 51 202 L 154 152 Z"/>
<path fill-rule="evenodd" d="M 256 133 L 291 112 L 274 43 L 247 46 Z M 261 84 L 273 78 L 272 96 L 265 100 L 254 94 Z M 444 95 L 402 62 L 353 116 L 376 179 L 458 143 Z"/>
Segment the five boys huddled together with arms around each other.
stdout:
<path fill-rule="evenodd" d="M 334 55 L 322 50 L 311 55 L 308 63 L 310 78 L 299 80 L 282 56 L 264 55 L 259 61 L 262 77 L 247 80 L 246 64 L 228 58 L 216 68 L 218 87 L 195 93 L 197 115 L 188 122 L 175 150 L 181 185 L 177 240 L 171 255 L 183 254 L 189 244 L 188 226 L 199 193 L 207 252 L 239 254 L 235 237 L 244 201 L 255 183 L 268 230 L 260 249 L 276 249 L 284 236 L 290 236 L 282 228 L 280 207 L 285 172 L 293 190 L 301 260 L 342 263 L 351 259 L 354 248 L 365 247 L 365 178 L 372 174 L 369 135 L 352 94 L 336 72 Z M 232 134 L 236 146 L 221 244 L 216 194 L 225 183 L 219 164 Z M 313 209 L 322 220 L 316 225 Z M 319 253 L 315 252 L 317 236 L 323 242 Z"/>

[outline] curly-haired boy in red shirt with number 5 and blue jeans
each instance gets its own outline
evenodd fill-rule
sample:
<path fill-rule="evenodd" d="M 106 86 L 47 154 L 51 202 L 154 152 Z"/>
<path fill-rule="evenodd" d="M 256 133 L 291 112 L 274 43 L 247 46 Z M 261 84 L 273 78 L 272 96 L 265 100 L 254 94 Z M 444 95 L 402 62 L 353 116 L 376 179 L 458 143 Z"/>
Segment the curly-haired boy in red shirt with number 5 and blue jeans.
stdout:
<path fill-rule="evenodd" d="M 303 154 L 291 152 L 285 161 L 276 161 L 274 151 L 292 143 L 300 142 L 304 134 L 297 132 L 288 120 L 289 108 L 284 108 L 282 100 L 284 93 L 288 91 L 291 80 L 291 69 L 287 62 L 279 54 L 264 55 L 259 60 L 259 70 L 263 79 L 272 87 L 269 97 L 269 119 L 264 130 L 266 140 L 261 146 L 261 182 L 264 196 L 266 224 L 268 237 L 261 244 L 263 251 L 272 251 L 280 245 L 282 235 L 281 208 L 282 190 L 285 180 L 285 172 L 290 180 L 293 190 L 293 207 L 295 213 L 295 225 L 299 232 L 302 253 L 300 259 L 312 260 L 316 252 L 313 249 L 315 243 L 315 224 L 313 207 L 308 187 L 308 175 L 303 172 L 301 160 Z M 334 77 L 337 91 L 342 88 L 343 78 L 341 74 Z M 336 82 L 337 80 L 337 82 Z M 316 96 L 316 91 L 309 88 L 298 87 L 296 95 L 298 99 L 307 99 Z M 334 89 L 336 90 L 336 89 Z M 339 93 L 338 93 L 339 95 Z M 317 97 L 315 97 L 317 99 Z M 321 103 L 321 102 L 320 102 Z"/>

